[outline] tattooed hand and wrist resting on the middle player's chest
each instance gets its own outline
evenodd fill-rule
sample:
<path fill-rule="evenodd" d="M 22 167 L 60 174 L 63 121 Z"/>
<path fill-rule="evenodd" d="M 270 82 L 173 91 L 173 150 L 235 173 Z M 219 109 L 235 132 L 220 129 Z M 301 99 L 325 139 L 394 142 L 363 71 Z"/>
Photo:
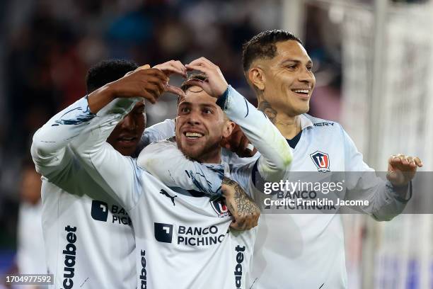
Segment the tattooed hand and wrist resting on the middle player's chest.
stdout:
<path fill-rule="evenodd" d="M 221 191 L 226 206 L 233 215 L 230 227 L 245 230 L 257 226 L 260 209 L 238 183 L 224 176 Z"/>

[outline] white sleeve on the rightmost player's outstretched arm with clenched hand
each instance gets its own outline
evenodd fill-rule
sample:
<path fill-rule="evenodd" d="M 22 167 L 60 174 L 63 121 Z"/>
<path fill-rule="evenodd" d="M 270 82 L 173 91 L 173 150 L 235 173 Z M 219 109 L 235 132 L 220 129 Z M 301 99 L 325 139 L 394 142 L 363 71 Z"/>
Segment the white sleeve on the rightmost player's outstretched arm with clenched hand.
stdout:
<path fill-rule="evenodd" d="M 374 169 L 364 162 L 362 154 L 343 129 L 342 134 L 345 142 L 346 198 L 368 200 L 369 205 L 363 206 L 361 210 L 379 221 L 391 220 L 403 212 L 408 200 L 400 195 L 409 190 L 412 196 L 412 186 L 396 188 L 389 181 L 376 176 Z"/>

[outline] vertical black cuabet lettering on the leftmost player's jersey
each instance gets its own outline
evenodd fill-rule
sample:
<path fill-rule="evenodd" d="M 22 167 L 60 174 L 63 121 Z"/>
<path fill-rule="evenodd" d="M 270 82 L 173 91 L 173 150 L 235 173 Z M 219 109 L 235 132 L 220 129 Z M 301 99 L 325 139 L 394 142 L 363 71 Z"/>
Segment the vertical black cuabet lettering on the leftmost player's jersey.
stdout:
<path fill-rule="evenodd" d="M 67 245 L 62 252 L 64 254 L 63 288 L 71 289 L 74 287 L 75 275 L 76 227 L 67 225 L 64 230 L 67 232 Z"/>

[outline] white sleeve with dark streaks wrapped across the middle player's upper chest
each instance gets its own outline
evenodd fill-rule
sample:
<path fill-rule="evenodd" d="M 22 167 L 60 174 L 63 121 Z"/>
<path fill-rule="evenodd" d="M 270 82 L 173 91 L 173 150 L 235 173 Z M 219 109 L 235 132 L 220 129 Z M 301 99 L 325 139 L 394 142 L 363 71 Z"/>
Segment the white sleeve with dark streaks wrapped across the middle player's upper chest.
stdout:
<path fill-rule="evenodd" d="M 139 154 L 137 165 L 160 179 L 166 186 L 201 191 L 210 198 L 221 196 L 223 164 L 201 164 L 187 159 L 174 137 L 154 142 Z"/>

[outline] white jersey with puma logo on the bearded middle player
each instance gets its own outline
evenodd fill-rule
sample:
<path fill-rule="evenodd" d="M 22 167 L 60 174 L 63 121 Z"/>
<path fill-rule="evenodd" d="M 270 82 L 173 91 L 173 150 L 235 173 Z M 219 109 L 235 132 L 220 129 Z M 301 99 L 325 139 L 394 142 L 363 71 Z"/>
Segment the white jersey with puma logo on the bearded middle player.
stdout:
<path fill-rule="evenodd" d="M 110 103 L 73 147 L 93 178 L 129 212 L 138 288 L 246 288 L 255 231 L 229 230 L 231 217 L 221 203 L 166 186 L 105 142 L 131 107 L 129 100 Z M 273 132 L 270 137 L 282 137 Z M 291 159 L 285 148 L 277 163 Z"/>

